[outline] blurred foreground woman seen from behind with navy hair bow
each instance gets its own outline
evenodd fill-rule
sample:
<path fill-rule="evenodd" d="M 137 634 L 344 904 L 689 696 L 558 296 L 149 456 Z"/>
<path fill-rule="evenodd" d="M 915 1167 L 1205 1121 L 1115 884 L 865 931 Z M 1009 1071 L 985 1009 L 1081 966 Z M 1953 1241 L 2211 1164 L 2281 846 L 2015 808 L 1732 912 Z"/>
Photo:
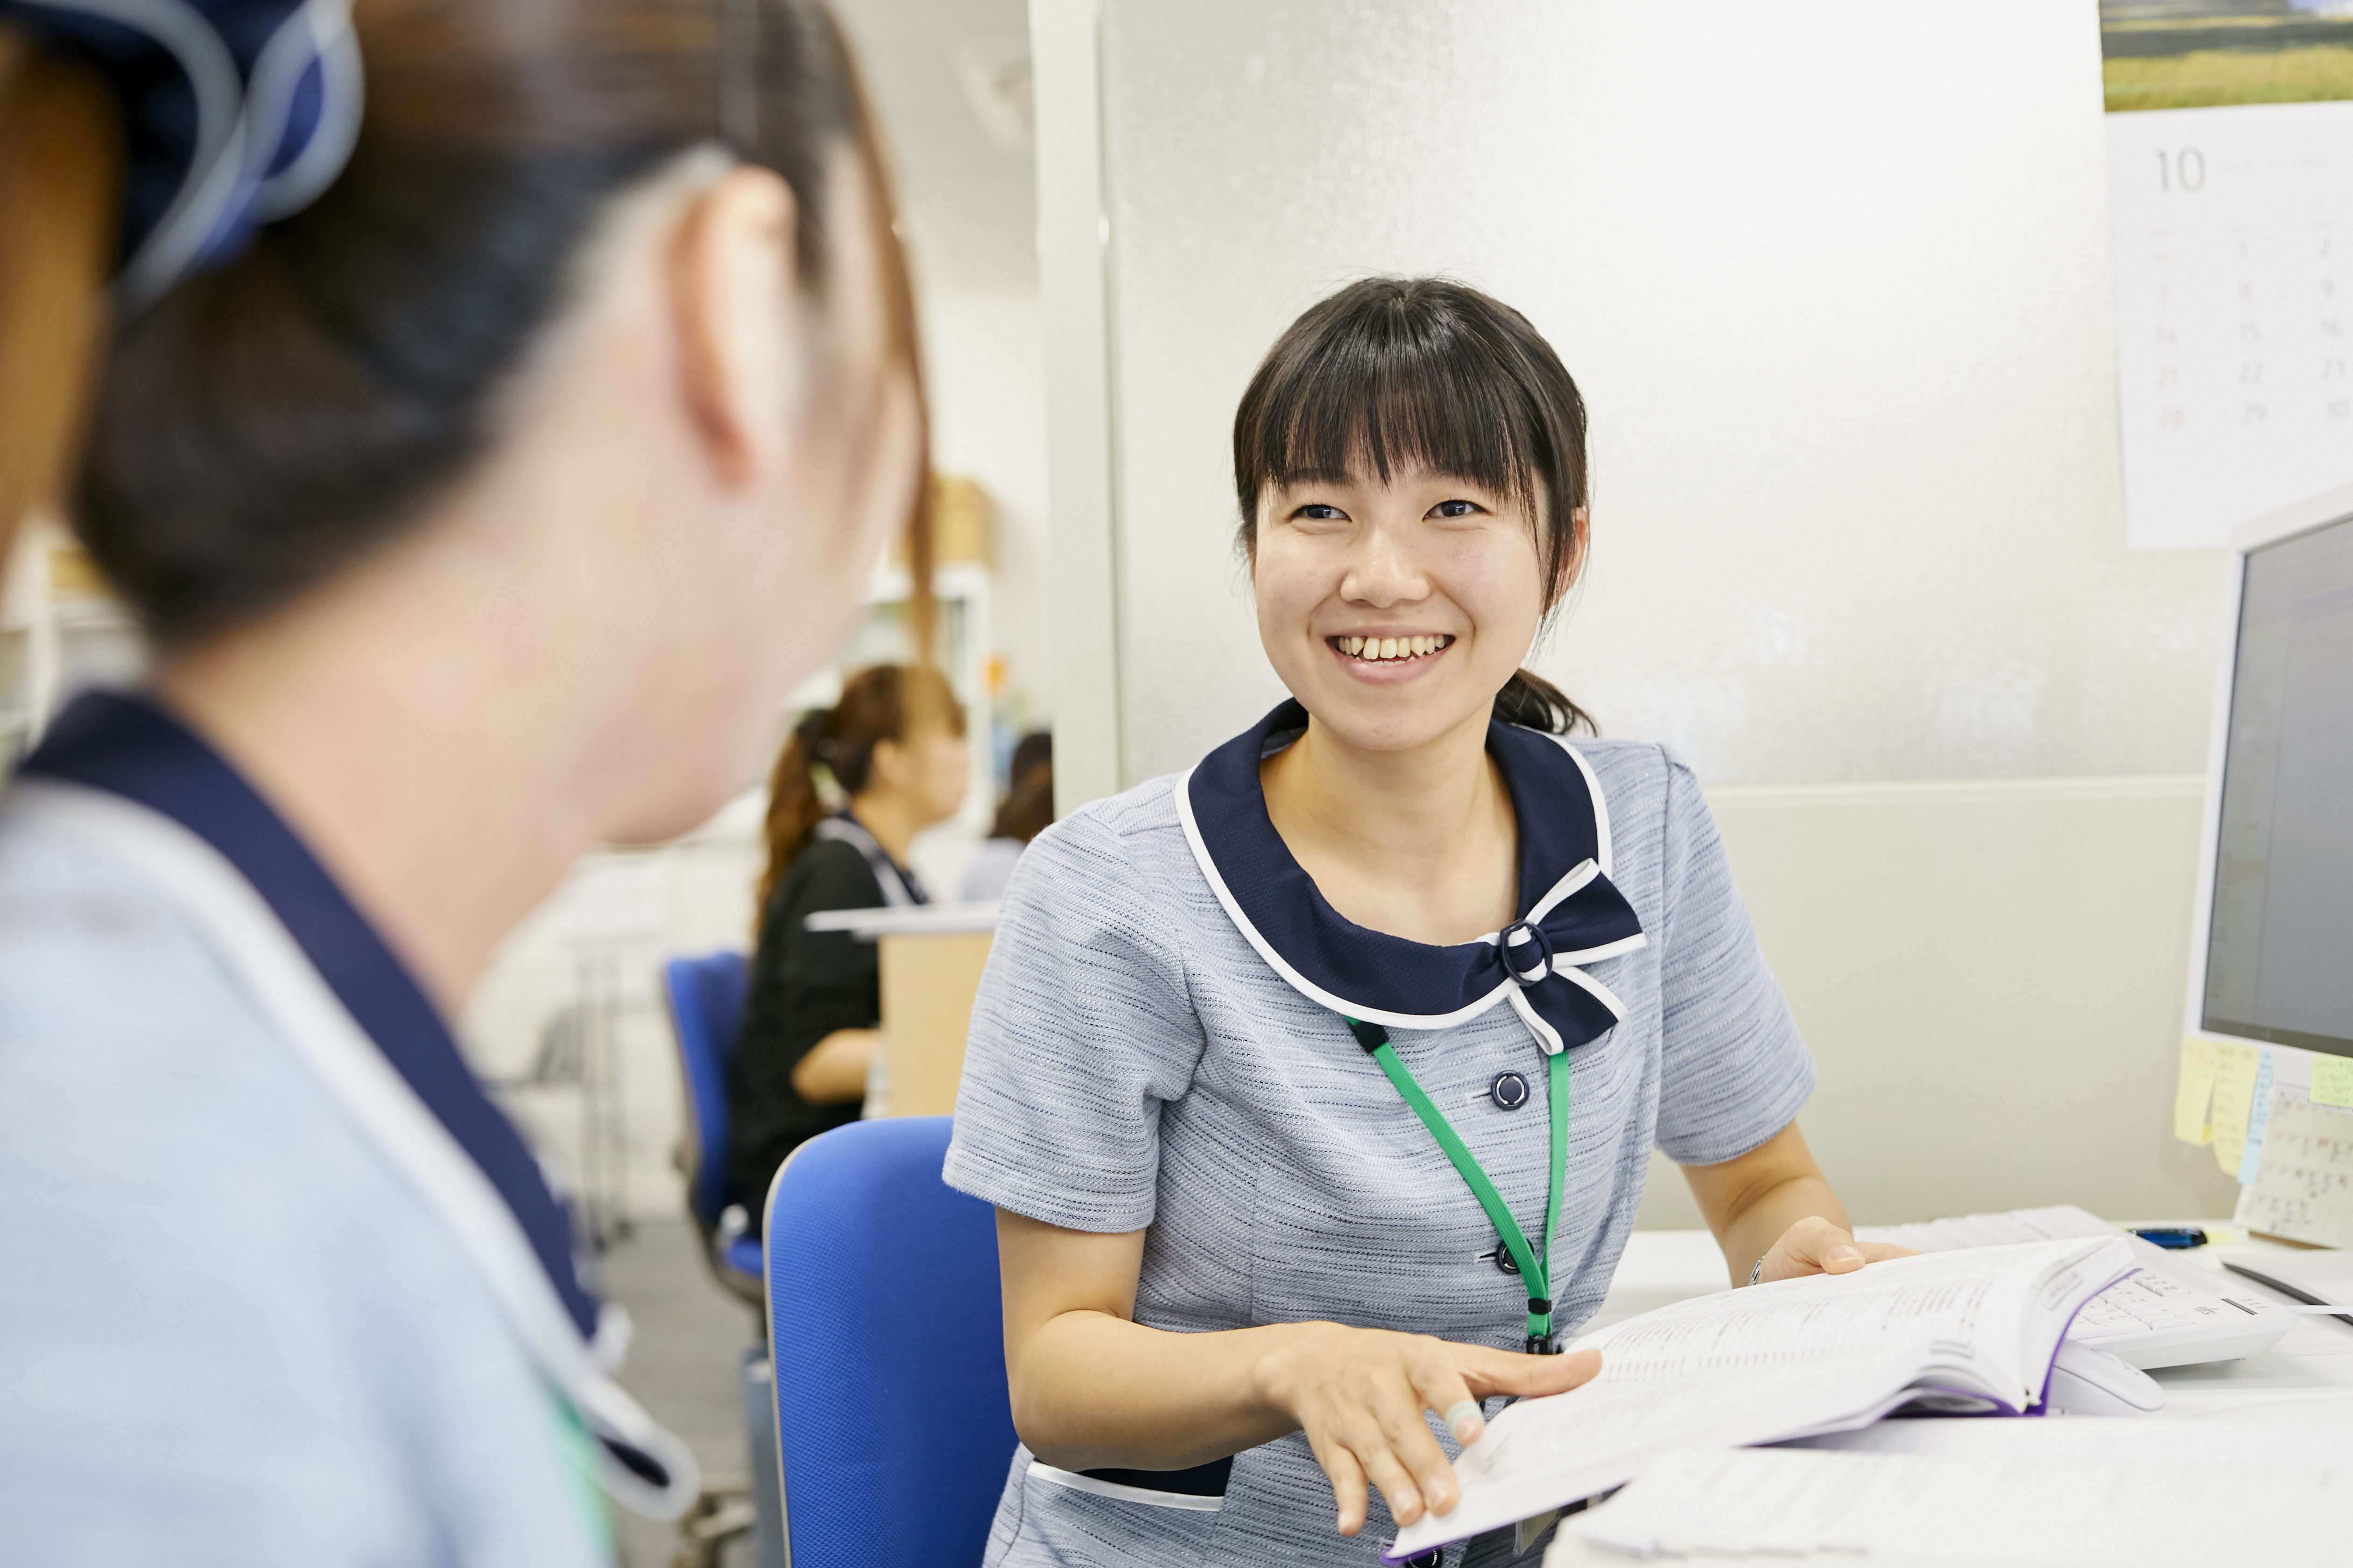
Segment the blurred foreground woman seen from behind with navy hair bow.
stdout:
<path fill-rule="evenodd" d="M 155 651 L 0 799 L 0 1537 L 609 1561 L 595 1486 L 675 1512 L 692 1458 L 447 1020 L 581 851 L 732 792 L 915 505 L 842 40 L 812 0 L 0 38 L 0 520 L 66 505 Z"/>

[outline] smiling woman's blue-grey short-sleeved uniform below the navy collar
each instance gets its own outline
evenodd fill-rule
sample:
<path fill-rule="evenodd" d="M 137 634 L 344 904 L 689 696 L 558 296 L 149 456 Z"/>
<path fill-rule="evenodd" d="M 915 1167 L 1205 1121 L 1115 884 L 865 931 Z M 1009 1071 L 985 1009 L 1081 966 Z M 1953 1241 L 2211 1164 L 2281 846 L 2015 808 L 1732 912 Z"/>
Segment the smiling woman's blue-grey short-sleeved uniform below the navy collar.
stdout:
<path fill-rule="evenodd" d="M 1261 750 L 1287 741 L 1275 719 L 1257 733 Z M 1546 1060 L 1527 1009 L 1504 997 L 1513 1006 L 1391 1039 L 1548 1251 L 1553 1321 L 1574 1331 L 1609 1286 L 1652 1145 L 1682 1164 L 1746 1154 L 1795 1119 L 1814 1067 L 1689 769 L 1657 745 L 1558 745 L 1574 771 L 1527 764 L 1525 745 L 1515 766 L 1489 741 L 1522 846 L 1551 802 L 1591 820 L 1642 940 L 1581 966 L 1598 985 L 1579 985 L 1621 1018 L 1591 1044 L 1569 1039 L 1567 1182 L 1548 1248 Z M 1527 1300 L 1492 1262 L 1494 1227 L 1334 997 L 1289 961 L 1306 957 L 1282 950 L 1329 938 L 1334 922 L 1365 943 L 1395 938 L 1327 907 L 1320 933 L 1254 929 L 1264 917 L 1226 886 L 1231 851 L 1219 879 L 1202 839 L 1219 839 L 1205 820 L 1219 811 L 1257 811 L 1252 830 L 1264 827 L 1264 797 L 1205 799 L 1186 795 L 1188 778 L 1094 802 L 1021 858 L 972 1013 L 948 1182 L 1068 1229 L 1146 1229 L 1136 1321 L 1153 1328 L 1327 1319 L 1520 1349 Z M 1534 1093 L 1504 1110 L 1487 1093 L 1499 1072 Z M 1329 1481 L 1299 1434 L 1235 1455 L 1221 1500 L 1146 1497 L 1024 1448 L 986 1563 L 1374 1563 L 1395 1535 L 1379 1493 L 1355 1540 L 1334 1533 Z M 1511 1556 L 1499 1533 L 1445 1561 Z"/>

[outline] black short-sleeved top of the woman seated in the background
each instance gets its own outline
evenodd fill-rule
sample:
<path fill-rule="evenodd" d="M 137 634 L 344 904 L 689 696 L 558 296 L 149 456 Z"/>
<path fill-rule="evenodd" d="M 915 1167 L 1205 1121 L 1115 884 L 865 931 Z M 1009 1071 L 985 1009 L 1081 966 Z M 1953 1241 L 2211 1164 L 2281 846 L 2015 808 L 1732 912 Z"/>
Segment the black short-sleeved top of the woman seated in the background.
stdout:
<path fill-rule="evenodd" d="M 760 1227 L 767 1182 L 795 1147 L 859 1119 L 859 1100 L 809 1105 L 793 1088 L 816 1041 L 882 1023 L 882 957 L 847 931 L 809 931 L 821 910 L 880 907 L 882 884 L 852 844 L 809 844 L 776 884 L 751 959 L 736 1056 L 727 1067 L 727 1201 Z"/>

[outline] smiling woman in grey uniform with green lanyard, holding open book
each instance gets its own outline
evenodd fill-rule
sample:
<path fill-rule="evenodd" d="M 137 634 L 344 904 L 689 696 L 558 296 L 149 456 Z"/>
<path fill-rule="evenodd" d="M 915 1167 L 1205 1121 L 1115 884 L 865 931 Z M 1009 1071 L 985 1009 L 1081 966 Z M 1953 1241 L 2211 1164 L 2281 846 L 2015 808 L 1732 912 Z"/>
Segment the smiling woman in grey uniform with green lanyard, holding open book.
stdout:
<path fill-rule="evenodd" d="M 1595 1373 L 1555 1352 L 1652 1147 L 1734 1281 L 1887 1251 L 1805 1152 L 1699 785 L 1572 743 L 1520 670 L 1588 529 L 1551 346 L 1461 284 L 1351 284 L 1233 458 L 1292 701 L 1042 832 L 972 1013 L 946 1175 L 998 1206 L 1024 1439 L 993 1568 L 1362 1563 L 1384 1502 L 1452 1512 L 1494 1401 Z"/>

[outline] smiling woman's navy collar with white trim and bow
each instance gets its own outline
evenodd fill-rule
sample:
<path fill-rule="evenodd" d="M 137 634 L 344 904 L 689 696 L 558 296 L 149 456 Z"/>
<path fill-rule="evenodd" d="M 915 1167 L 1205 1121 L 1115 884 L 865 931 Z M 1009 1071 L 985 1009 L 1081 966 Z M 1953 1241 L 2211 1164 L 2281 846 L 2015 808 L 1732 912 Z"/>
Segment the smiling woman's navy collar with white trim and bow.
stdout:
<path fill-rule="evenodd" d="M 1487 726 L 1518 820 L 1518 919 L 1475 943 L 1428 947 L 1341 917 L 1268 820 L 1259 762 L 1306 722 L 1306 708 L 1282 703 L 1176 785 L 1193 858 L 1275 973 L 1346 1018 L 1402 1030 L 1452 1027 L 1508 1001 L 1548 1051 L 1598 1039 L 1626 1016 L 1584 971 L 1645 938 L 1609 882 L 1609 809 L 1577 748 L 1518 724 Z"/>

